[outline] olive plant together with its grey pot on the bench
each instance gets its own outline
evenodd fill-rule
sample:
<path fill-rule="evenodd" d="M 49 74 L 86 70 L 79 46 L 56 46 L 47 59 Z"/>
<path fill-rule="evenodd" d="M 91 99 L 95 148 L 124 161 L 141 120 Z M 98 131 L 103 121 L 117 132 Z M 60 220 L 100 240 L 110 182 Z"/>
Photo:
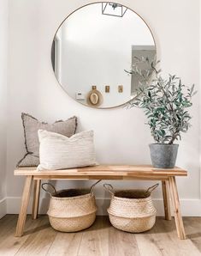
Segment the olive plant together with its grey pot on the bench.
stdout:
<path fill-rule="evenodd" d="M 140 70 L 140 64 L 149 68 Z M 186 87 L 177 76 L 161 76 L 157 70 L 158 62 L 150 63 L 148 58 L 137 58 L 129 74 L 138 74 L 142 79 L 136 98 L 129 102 L 129 107 L 144 109 L 147 125 L 155 143 L 150 144 L 151 161 L 154 168 L 174 168 L 181 132 L 188 131 L 190 119 L 187 108 L 192 106 L 194 85 Z M 144 65 L 145 66 L 145 65 Z"/>

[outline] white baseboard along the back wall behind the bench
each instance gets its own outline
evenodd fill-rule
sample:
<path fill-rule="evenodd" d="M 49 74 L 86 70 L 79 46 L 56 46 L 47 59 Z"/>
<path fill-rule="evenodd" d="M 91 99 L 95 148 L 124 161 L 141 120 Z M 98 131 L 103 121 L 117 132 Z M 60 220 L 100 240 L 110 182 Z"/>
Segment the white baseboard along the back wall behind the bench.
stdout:
<path fill-rule="evenodd" d="M 41 198 L 39 205 L 39 213 L 45 214 L 48 210 L 49 198 Z M 5 200 L 4 200 L 5 201 Z M 109 207 L 109 198 L 97 198 L 98 215 L 107 215 Z M 31 198 L 32 202 L 32 198 Z M 154 205 L 157 208 L 157 216 L 164 216 L 163 199 L 153 199 Z M 0 201 L 1 204 L 1 201 Z M 6 202 L 8 214 L 18 214 L 21 206 L 21 198 L 7 198 Z M 201 216 L 201 199 L 180 199 L 182 216 Z M 2 207 L 0 207 L 1 209 Z M 6 207 L 4 207 L 6 208 Z M 31 213 L 31 204 L 28 207 L 28 213 Z M 0 210 L 1 216 L 1 210 Z"/>

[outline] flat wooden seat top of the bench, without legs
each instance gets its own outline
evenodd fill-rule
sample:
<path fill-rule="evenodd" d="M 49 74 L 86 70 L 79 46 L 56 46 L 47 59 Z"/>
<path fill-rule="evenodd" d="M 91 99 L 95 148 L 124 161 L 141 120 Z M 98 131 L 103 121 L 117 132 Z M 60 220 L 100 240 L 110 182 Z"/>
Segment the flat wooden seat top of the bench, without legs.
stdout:
<path fill-rule="evenodd" d="M 158 169 L 150 165 L 98 165 L 87 168 L 37 171 L 36 168 L 17 168 L 15 175 L 31 175 L 49 179 L 52 177 L 65 179 L 132 179 L 132 178 L 163 178 L 171 176 L 187 176 L 182 168 Z M 159 179 L 160 180 L 160 179 Z"/>

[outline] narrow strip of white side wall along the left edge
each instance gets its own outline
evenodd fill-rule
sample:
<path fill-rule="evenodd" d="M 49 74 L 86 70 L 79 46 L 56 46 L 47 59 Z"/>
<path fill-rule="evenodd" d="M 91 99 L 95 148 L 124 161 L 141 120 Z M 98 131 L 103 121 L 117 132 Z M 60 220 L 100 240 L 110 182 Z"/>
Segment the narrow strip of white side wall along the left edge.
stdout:
<path fill-rule="evenodd" d="M 0 1 L 0 218 L 5 213 L 6 196 L 6 100 L 7 100 L 7 45 L 8 1 Z"/>

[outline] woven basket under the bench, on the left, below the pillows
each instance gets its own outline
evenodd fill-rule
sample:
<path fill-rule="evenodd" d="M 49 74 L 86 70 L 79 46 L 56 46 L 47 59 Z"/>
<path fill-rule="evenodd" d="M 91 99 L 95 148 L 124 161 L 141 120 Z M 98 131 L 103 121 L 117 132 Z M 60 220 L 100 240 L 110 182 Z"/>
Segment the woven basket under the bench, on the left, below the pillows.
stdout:
<path fill-rule="evenodd" d="M 50 183 L 42 185 L 45 192 L 50 193 L 44 186 L 51 186 L 54 190 L 50 193 L 50 206 L 47 212 L 53 229 L 76 232 L 92 226 L 97 211 L 93 188 L 98 182 L 90 189 L 67 189 L 58 192 Z"/>

